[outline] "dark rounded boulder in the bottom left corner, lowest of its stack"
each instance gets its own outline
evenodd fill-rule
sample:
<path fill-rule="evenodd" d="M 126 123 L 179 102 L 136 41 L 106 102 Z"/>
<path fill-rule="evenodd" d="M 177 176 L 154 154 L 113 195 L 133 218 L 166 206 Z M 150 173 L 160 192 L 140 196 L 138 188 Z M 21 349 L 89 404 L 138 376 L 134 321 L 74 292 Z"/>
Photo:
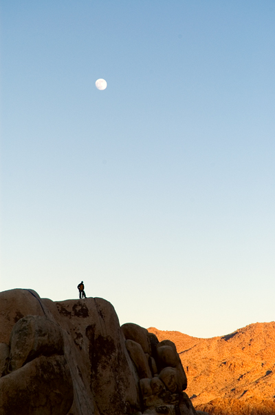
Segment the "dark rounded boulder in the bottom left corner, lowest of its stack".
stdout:
<path fill-rule="evenodd" d="M 0 415 L 66 415 L 73 400 L 64 356 L 41 356 L 0 379 Z"/>

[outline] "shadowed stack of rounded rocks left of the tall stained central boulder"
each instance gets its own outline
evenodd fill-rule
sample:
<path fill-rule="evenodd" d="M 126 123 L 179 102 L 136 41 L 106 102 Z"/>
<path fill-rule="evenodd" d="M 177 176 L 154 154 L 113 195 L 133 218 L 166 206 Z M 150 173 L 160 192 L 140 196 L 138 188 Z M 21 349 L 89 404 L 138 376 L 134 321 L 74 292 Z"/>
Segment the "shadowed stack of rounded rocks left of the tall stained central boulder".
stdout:
<path fill-rule="evenodd" d="M 43 307 L 36 307 L 39 301 L 32 291 L 0 293 L 0 336 L 8 339 L 0 344 L 0 415 L 66 415 L 72 406 L 63 332 Z M 37 314 L 42 309 L 44 316 L 24 316 L 28 306 Z"/>

